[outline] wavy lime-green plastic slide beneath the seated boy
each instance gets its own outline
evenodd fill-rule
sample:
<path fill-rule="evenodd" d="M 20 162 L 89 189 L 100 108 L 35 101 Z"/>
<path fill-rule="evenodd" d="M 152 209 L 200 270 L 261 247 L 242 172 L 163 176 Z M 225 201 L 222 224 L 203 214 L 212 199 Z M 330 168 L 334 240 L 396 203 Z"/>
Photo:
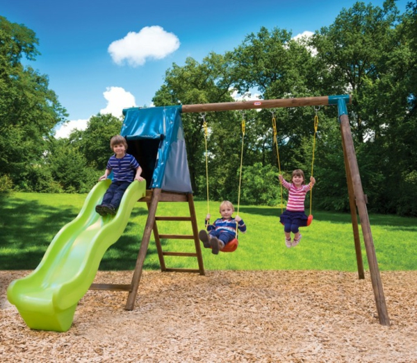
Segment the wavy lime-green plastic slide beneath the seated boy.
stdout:
<path fill-rule="evenodd" d="M 117 214 L 101 217 L 95 206 L 110 184 L 111 180 L 97 183 L 79 215 L 54 237 L 38 267 L 8 286 L 8 301 L 16 305 L 29 328 L 70 329 L 76 305 L 92 284 L 101 258 L 122 235 L 133 206 L 146 194 L 146 182 L 133 181 Z"/>

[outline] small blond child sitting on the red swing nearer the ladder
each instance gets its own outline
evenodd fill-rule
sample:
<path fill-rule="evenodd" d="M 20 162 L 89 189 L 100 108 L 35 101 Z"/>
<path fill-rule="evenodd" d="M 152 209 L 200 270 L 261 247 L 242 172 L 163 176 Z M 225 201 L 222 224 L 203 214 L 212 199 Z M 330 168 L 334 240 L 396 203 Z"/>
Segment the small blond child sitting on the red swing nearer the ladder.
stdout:
<path fill-rule="evenodd" d="M 238 215 L 231 217 L 234 213 L 234 206 L 229 201 L 220 203 L 220 214 L 222 218 L 218 218 L 213 224 L 210 224 L 211 215 L 208 213 L 205 219 L 205 225 L 208 230 L 200 230 L 198 237 L 202 240 L 205 248 L 211 248 L 211 253 L 218 255 L 226 244 L 236 238 L 236 223 L 241 233 L 246 232 L 246 225 L 243 219 Z"/>

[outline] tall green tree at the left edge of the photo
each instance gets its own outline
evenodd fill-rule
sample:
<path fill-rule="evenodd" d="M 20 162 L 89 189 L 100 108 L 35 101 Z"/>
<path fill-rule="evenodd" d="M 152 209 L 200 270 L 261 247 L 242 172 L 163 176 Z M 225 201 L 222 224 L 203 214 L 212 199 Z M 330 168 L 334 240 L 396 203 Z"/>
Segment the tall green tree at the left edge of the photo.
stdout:
<path fill-rule="evenodd" d="M 67 116 L 47 76 L 21 63 L 23 57 L 35 60 L 37 45 L 33 31 L 0 17 L 0 176 L 29 190 L 38 189 L 31 174 L 40 167 L 47 137 Z"/>

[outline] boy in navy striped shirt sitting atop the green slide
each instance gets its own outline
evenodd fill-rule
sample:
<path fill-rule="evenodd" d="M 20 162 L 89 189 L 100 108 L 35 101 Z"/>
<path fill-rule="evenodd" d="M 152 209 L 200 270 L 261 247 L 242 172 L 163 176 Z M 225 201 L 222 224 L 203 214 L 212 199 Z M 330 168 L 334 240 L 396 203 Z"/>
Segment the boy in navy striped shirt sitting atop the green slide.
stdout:
<path fill-rule="evenodd" d="M 145 180 L 140 176 L 142 168 L 133 155 L 126 153 L 127 142 L 121 135 L 115 135 L 110 140 L 110 148 L 114 155 L 108 159 L 106 171 L 100 180 L 106 180 L 113 171 L 113 182 L 104 194 L 101 204 L 96 205 L 96 212 L 101 216 L 116 214 L 122 196 L 133 180 Z"/>

